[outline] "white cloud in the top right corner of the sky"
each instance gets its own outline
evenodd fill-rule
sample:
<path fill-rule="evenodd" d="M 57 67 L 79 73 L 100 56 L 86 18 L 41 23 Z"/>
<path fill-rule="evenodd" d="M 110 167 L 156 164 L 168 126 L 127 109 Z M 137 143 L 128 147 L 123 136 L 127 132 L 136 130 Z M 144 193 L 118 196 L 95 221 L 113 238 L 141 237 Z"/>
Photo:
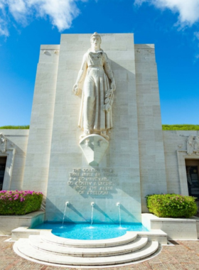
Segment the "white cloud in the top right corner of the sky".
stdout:
<path fill-rule="evenodd" d="M 134 4 L 140 6 L 144 2 L 158 9 L 171 9 L 173 13 L 179 13 L 178 23 L 181 26 L 192 26 L 199 21 L 199 0 L 135 0 Z"/>

